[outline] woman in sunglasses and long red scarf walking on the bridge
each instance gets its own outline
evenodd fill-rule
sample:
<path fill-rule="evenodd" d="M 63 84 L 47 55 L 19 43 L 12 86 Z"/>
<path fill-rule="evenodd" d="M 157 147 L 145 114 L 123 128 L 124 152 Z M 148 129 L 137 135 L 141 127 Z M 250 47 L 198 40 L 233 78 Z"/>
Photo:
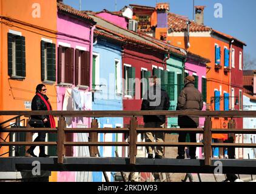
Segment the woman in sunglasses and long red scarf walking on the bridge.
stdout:
<path fill-rule="evenodd" d="M 36 95 L 32 99 L 32 110 L 52 110 L 52 106 L 49 102 L 49 98 L 46 96 L 46 87 L 44 84 L 38 84 L 36 86 Z M 46 128 L 55 128 L 55 120 L 52 115 L 34 115 L 31 116 L 31 119 L 38 119 L 43 121 L 42 126 L 37 127 L 46 127 Z M 45 132 L 39 132 L 38 137 L 35 139 L 35 142 L 43 142 L 45 141 Z M 29 153 L 33 157 L 37 157 L 33 150 L 35 149 L 35 146 L 31 146 L 27 153 Z M 45 154 L 45 148 L 44 146 L 39 147 L 39 157 L 49 157 L 49 155 Z"/>

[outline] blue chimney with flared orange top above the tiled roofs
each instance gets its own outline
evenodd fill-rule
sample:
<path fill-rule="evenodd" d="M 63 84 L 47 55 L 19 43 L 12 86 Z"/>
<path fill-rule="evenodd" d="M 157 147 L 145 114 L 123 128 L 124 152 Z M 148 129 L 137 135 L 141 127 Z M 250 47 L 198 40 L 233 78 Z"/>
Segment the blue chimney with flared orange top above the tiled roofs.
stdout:
<path fill-rule="evenodd" d="M 158 3 L 155 7 L 157 10 L 157 27 L 168 28 L 169 3 Z"/>

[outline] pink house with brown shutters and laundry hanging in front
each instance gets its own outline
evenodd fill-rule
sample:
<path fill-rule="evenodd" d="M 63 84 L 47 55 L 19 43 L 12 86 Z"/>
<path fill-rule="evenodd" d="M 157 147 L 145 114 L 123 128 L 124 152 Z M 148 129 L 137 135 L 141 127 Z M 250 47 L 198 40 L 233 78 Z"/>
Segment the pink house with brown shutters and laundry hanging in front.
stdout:
<path fill-rule="evenodd" d="M 92 46 L 95 22 L 72 7 L 58 2 L 57 107 L 58 110 L 92 109 Z M 66 118 L 67 127 L 90 127 L 89 118 Z M 66 141 L 88 138 L 66 136 Z M 86 139 L 84 140 L 86 141 Z M 66 156 L 84 156 L 77 147 L 67 147 Z M 54 153 L 52 153 L 54 154 Z M 58 172 L 58 182 L 77 181 L 79 172 Z M 90 181 L 90 180 L 89 180 Z"/>

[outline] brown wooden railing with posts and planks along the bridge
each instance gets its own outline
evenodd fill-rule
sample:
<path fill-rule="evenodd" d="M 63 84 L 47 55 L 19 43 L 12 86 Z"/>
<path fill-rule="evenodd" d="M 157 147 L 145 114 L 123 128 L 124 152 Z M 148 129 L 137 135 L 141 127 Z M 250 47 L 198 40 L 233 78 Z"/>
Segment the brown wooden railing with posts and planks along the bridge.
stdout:
<path fill-rule="evenodd" d="M 90 155 L 96 156 L 98 153 L 97 146 L 127 146 L 129 147 L 130 164 L 136 164 L 136 155 L 138 146 L 195 146 L 204 148 L 204 165 L 210 166 L 212 159 L 212 147 L 227 147 L 229 151 L 234 152 L 235 147 L 255 148 L 256 144 L 235 144 L 234 134 L 256 134 L 256 129 L 235 129 L 234 118 L 255 118 L 256 111 L 0 111 L 0 116 L 15 115 L 15 116 L 32 116 L 32 115 L 53 115 L 58 117 L 58 127 L 51 128 L 7 128 L 0 126 L 1 132 L 51 132 L 58 133 L 57 142 L 0 142 L 2 146 L 57 146 L 58 163 L 64 162 L 64 156 L 67 146 L 89 146 Z M 138 127 L 137 118 L 144 115 L 166 115 L 167 117 L 177 117 L 178 115 L 204 117 L 204 128 L 141 128 Z M 65 117 L 87 117 L 93 118 L 90 128 L 66 128 Z M 96 118 L 101 117 L 121 117 L 130 118 L 130 125 L 127 128 L 98 128 Z M 230 118 L 228 129 L 212 129 L 212 118 Z M 165 133 L 203 133 L 203 142 L 137 142 L 138 133 L 146 132 L 165 132 Z M 67 133 L 89 133 L 89 142 L 68 142 L 66 141 Z M 126 133 L 129 137 L 128 142 L 98 142 L 98 133 Z M 212 133 L 229 133 L 231 141 L 228 143 L 212 142 Z M 234 155 L 234 154 L 233 154 Z"/>

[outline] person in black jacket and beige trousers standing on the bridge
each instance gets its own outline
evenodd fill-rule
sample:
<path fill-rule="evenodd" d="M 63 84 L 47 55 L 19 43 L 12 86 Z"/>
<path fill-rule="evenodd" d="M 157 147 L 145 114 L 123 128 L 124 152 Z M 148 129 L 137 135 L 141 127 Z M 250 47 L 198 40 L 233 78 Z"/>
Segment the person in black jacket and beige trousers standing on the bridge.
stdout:
<path fill-rule="evenodd" d="M 170 98 L 167 92 L 161 89 L 157 83 L 157 76 L 151 76 L 149 79 L 149 90 L 144 94 L 141 104 L 141 110 L 169 110 Z M 146 115 L 143 116 L 145 128 L 162 128 L 166 123 L 165 115 Z M 147 132 L 146 142 L 153 142 L 154 135 L 156 142 L 163 142 L 163 132 Z M 146 147 L 148 158 L 153 158 L 153 147 Z M 155 158 L 163 157 L 163 147 L 157 146 Z"/>

